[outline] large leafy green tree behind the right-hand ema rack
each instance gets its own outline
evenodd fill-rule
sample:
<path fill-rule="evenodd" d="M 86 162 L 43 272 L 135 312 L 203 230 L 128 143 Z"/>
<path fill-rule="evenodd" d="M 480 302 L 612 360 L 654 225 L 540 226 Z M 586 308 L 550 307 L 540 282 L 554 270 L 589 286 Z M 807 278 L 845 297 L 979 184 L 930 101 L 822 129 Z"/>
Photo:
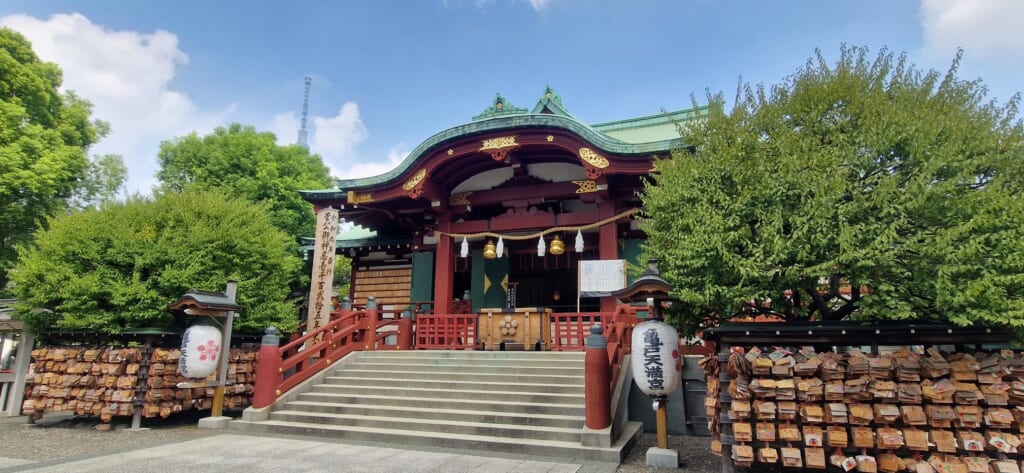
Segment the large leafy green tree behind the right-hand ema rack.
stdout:
<path fill-rule="evenodd" d="M 681 127 L 689 150 L 643 196 L 692 333 L 744 313 L 1024 327 L 1019 95 L 920 71 L 905 54 L 818 52 Z"/>

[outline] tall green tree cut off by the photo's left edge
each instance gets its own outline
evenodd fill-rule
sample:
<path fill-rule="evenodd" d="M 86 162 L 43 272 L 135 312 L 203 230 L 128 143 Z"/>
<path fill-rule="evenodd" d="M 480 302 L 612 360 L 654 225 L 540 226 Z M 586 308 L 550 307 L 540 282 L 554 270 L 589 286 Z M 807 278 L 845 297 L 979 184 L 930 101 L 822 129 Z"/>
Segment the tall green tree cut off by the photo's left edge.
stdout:
<path fill-rule="evenodd" d="M 0 291 L 46 217 L 62 212 L 88 168 L 86 149 L 108 131 L 92 105 L 61 93 L 60 68 L 24 36 L 0 28 Z"/>

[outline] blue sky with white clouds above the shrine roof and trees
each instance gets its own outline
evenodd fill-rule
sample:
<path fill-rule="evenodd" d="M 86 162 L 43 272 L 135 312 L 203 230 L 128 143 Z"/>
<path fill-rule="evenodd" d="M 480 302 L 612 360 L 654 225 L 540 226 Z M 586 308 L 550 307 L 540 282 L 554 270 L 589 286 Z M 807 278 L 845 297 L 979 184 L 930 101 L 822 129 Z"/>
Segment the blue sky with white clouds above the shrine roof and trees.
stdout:
<path fill-rule="evenodd" d="M 905 51 L 1005 101 L 1024 77 L 1018 0 L 5 0 L 95 104 L 128 188 L 155 183 L 162 140 L 231 122 L 294 142 L 303 77 L 309 143 L 336 177 L 379 174 L 469 121 L 496 92 L 530 107 L 550 84 L 587 123 L 689 107 L 737 81 L 773 84 L 820 48 Z"/>

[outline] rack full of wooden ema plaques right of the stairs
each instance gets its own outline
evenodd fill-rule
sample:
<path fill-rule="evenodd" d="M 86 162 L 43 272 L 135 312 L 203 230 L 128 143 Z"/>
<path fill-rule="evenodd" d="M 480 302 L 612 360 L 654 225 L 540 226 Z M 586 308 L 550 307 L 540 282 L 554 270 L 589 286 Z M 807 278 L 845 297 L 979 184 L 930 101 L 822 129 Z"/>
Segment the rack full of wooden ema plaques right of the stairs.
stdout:
<path fill-rule="evenodd" d="M 734 324 L 705 339 L 723 472 L 1022 470 L 1024 353 L 1006 331 Z"/>

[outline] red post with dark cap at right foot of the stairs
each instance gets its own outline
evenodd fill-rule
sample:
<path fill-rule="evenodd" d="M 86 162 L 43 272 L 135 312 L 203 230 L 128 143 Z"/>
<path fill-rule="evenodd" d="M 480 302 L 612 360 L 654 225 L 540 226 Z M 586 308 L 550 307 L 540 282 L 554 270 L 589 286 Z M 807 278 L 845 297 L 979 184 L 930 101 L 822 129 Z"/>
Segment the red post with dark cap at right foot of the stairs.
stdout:
<path fill-rule="evenodd" d="M 584 411 L 588 429 L 600 430 L 611 425 L 611 370 L 608 367 L 608 341 L 601 324 L 590 326 L 587 356 L 584 360 Z"/>

